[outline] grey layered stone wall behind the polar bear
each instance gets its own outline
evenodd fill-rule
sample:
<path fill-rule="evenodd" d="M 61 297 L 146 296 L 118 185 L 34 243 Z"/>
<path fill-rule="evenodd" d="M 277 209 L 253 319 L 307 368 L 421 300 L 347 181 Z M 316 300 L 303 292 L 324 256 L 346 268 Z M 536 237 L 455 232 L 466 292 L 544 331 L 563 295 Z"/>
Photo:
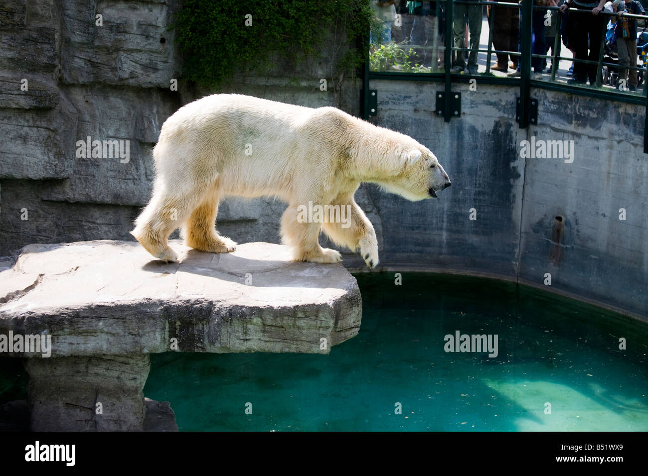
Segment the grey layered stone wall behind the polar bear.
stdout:
<path fill-rule="evenodd" d="M 132 240 L 128 231 L 150 195 L 151 150 L 163 122 L 213 92 L 181 80 L 171 28 L 180 6 L 174 0 L 3 1 L 0 256 L 30 243 Z M 349 73 L 332 78 L 330 65 L 345 52 L 341 41 L 327 41 L 318 60 L 277 57 L 269 71 L 241 71 L 222 91 L 357 113 L 360 83 Z M 321 78 L 327 91 L 319 89 Z M 128 161 L 77 158 L 76 141 L 86 137 L 128 141 Z M 271 199 L 233 199 L 218 220 L 242 242 L 277 243 L 282 209 Z"/>

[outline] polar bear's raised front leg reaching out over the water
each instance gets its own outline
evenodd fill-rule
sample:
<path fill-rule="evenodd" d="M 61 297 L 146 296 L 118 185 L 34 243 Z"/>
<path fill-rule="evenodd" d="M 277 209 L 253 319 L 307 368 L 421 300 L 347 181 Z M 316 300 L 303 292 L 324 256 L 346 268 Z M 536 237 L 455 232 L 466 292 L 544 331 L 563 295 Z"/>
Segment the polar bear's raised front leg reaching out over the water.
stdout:
<path fill-rule="evenodd" d="M 336 244 L 346 246 L 351 251 L 360 248 L 360 255 L 367 266 L 372 269 L 378 266 L 376 231 L 364 211 L 353 197 L 336 201 L 334 205 L 340 205 L 340 220 L 324 223 L 324 232 Z"/>

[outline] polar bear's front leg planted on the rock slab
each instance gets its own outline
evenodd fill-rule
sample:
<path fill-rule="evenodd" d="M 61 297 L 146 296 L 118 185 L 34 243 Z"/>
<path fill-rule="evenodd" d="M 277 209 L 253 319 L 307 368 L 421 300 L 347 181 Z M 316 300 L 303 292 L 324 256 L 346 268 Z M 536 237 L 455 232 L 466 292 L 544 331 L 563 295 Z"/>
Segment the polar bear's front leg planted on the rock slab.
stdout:
<path fill-rule="evenodd" d="M 296 205 L 290 205 L 281 216 L 281 241 L 292 248 L 295 261 L 337 263 L 342 260 L 334 249 L 322 248 L 318 243 L 321 223 L 300 222 Z"/>

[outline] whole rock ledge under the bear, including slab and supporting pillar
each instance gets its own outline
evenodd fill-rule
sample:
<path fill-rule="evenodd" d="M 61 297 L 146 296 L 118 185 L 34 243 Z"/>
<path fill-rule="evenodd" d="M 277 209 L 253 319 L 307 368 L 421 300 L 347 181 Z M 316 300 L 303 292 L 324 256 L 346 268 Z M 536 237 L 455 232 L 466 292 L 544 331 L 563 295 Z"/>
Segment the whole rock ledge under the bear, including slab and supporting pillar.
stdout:
<path fill-rule="evenodd" d="M 32 430 L 174 429 L 168 404 L 145 402 L 152 353 L 329 354 L 358 333 L 360 291 L 339 264 L 266 243 L 226 255 L 171 245 L 179 264 L 110 240 L 29 245 L 0 262 L 0 339 L 51 339 L 0 345 L 26 357 Z"/>

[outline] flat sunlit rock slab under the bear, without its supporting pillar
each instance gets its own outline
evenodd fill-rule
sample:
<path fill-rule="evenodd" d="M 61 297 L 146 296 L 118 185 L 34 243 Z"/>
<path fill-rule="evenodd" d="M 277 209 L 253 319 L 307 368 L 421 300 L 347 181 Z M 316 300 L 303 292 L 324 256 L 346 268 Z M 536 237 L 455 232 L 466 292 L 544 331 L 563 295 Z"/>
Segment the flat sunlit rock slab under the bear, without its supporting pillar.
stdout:
<path fill-rule="evenodd" d="M 52 357 L 67 357 L 328 354 L 358 333 L 360 291 L 340 265 L 292 262 L 264 243 L 227 255 L 172 247 L 180 264 L 136 242 L 25 247 L 0 272 L 0 334 L 51 334 Z"/>

